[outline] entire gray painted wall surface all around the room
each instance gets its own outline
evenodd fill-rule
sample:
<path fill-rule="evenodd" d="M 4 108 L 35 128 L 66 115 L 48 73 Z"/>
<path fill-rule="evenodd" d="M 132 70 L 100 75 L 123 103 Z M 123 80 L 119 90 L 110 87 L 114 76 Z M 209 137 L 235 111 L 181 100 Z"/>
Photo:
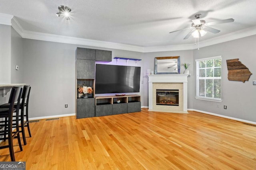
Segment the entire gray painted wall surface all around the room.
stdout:
<path fill-rule="evenodd" d="M 140 94 L 142 106 L 148 106 L 147 69 L 154 70 L 154 57 L 180 56 L 180 63 L 190 63 L 188 77 L 188 108 L 256 122 L 255 44 L 256 35 L 200 50 L 139 53 L 125 50 L 89 47 L 32 39 L 22 39 L 8 25 L 0 25 L 0 83 L 26 83 L 32 86 L 30 118 L 75 113 L 75 62 L 76 47 L 111 50 L 112 57 L 142 59 L 129 61 L 128 65 L 141 66 Z M 22 53 L 22 56 L 20 56 Z M 196 100 L 195 59 L 222 56 L 222 102 Z M 249 82 L 228 81 L 227 59 L 239 58 L 252 72 Z M 100 63 L 100 62 L 97 62 Z M 108 64 L 126 65 L 125 60 L 115 59 Z M 15 65 L 19 65 L 16 72 Z M 181 73 L 184 68 L 181 67 Z M 142 84 L 143 83 L 143 84 Z M 1 98 L 0 102 L 2 103 Z M 68 108 L 64 108 L 68 104 Z M 227 105 L 228 109 L 223 109 Z"/>

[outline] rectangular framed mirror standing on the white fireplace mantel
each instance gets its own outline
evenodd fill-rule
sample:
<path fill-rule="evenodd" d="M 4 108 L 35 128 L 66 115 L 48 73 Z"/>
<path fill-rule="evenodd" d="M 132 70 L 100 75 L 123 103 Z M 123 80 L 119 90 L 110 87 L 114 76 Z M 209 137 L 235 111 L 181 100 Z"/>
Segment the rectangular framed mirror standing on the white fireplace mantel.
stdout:
<path fill-rule="evenodd" d="M 155 57 L 155 74 L 180 74 L 180 56 Z"/>

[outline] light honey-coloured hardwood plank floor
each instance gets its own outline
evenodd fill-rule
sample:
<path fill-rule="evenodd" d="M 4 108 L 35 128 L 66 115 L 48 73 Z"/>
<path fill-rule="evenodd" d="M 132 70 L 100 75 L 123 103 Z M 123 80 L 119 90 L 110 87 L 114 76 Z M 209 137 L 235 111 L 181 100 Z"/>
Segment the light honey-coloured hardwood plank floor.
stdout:
<path fill-rule="evenodd" d="M 256 127 L 206 115 L 141 112 L 30 123 L 27 170 L 255 170 Z M 28 135 L 27 135 L 28 136 Z M 10 161 L 0 150 L 0 161 Z"/>

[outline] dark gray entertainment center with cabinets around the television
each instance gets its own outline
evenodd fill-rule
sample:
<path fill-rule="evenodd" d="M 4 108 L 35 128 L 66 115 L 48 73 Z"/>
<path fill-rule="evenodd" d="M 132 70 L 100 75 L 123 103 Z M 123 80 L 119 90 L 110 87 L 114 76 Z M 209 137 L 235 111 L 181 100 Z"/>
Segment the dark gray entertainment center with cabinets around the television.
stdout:
<path fill-rule="evenodd" d="M 94 96 L 95 92 L 95 62 L 112 61 L 112 51 L 76 49 L 76 118 L 115 115 L 141 111 L 140 95 L 125 96 Z M 93 94 L 89 98 L 81 98 L 78 84 L 93 87 Z M 117 100 L 120 100 L 118 103 Z"/>

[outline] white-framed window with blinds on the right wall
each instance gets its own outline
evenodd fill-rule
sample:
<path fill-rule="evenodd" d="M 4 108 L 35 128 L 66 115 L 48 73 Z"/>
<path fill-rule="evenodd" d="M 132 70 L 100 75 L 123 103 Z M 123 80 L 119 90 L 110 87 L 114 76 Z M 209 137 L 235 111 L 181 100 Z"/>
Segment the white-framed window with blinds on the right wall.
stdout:
<path fill-rule="evenodd" d="M 196 99 L 221 102 L 221 56 L 196 60 Z"/>

